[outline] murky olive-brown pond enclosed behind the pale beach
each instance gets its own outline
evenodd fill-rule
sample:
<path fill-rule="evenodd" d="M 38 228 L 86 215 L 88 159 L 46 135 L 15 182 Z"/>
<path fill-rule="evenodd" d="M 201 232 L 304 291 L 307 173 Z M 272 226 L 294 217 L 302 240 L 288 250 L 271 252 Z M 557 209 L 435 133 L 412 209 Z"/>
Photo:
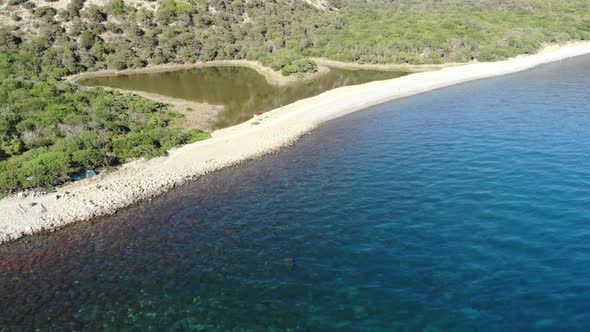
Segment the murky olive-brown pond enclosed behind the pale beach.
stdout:
<path fill-rule="evenodd" d="M 108 86 L 132 91 L 223 105 L 215 128 L 242 123 L 253 114 L 265 112 L 299 99 L 347 85 L 386 80 L 403 72 L 331 69 L 317 79 L 283 87 L 271 85 L 254 69 L 244 67 L 195 68 L 169 72 L 89 78 L 87 86 Z"/>

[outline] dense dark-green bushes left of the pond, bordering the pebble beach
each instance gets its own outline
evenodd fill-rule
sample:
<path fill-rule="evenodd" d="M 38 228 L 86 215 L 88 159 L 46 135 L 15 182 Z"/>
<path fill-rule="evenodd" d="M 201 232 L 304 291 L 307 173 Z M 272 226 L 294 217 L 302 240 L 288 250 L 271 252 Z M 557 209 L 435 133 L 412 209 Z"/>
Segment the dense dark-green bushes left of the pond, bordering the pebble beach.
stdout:
<path fill-rule="evenodd" d="M 0 193 L 48 187 L 86 169 L 162 155 L 208 137 L 167 128 L 166 105 L 57 80 L 24 49 L 0 55 Z"/>

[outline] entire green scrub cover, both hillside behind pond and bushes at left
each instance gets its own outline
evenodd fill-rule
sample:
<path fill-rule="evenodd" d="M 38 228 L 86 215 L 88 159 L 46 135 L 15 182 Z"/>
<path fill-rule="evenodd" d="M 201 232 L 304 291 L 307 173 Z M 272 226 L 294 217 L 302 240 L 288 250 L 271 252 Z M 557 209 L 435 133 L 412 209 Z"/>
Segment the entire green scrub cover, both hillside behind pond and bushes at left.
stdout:
<path fill-rule="evenodd" d="M 312 57 L 359 63 L 501 60 L 590 38 L 587 0 L 72 0 L 0 4 L 0 193 L 206 138 L 165 105 L 62 82 L 151 64 L 257 60 L 284 75 Z"/>

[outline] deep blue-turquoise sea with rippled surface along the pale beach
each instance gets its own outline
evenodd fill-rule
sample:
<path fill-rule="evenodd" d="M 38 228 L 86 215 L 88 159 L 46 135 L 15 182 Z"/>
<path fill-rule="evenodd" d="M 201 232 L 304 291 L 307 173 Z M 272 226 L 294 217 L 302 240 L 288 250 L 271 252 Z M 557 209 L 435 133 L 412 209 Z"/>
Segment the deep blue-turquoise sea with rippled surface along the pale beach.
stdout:
<path fill-rule="evenodd" d="M 0 325 L 587 331 L 590 57 L 332 121 L 0 247 Z"/>

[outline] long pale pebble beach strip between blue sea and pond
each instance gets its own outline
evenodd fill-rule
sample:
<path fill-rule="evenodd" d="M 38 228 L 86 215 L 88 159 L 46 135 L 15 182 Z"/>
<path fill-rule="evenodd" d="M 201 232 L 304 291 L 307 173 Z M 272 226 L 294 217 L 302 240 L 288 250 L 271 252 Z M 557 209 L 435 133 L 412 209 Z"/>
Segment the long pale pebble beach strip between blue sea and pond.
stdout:
<path fill-rule="evenodd" d="M 369 106 L 589 53 L 590 42 L 572 43 L 502 62 L 448 67 L 330 90 L 267 112 L 258 125 L 250 120 L 215 131 L 211 139 L 175 149 L 167 157 L 135 161 L 56 193 L 5 198 L 0 201 L 0 242 L 112 214 L 203 174 L 276 151 L 323 122 Z"/>

